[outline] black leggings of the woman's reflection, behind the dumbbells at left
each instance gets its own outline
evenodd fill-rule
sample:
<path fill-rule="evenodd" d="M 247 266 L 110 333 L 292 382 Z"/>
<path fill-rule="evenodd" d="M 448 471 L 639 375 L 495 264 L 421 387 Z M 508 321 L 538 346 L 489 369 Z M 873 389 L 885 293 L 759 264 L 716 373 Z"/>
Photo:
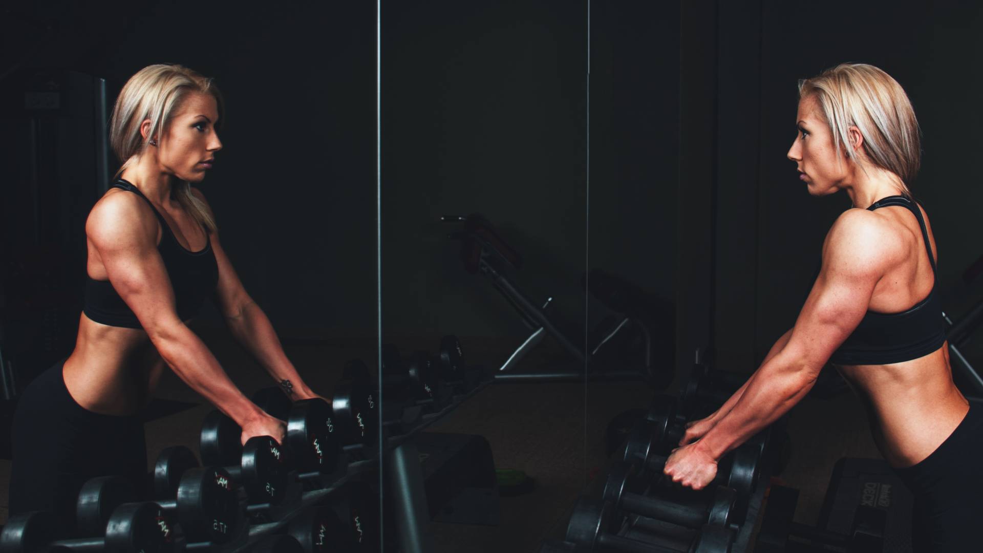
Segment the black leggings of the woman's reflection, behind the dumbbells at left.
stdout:
<path fill-rule="evenodd" d="M 61 527 L 73 528 L 89 478 L 119 474 L 143 492 L 146 445 L 141 417 L 93 413 L 72 399 L 64 364 L 34 379 L 14 414 L 10 514 L 52 511 Z"/>

